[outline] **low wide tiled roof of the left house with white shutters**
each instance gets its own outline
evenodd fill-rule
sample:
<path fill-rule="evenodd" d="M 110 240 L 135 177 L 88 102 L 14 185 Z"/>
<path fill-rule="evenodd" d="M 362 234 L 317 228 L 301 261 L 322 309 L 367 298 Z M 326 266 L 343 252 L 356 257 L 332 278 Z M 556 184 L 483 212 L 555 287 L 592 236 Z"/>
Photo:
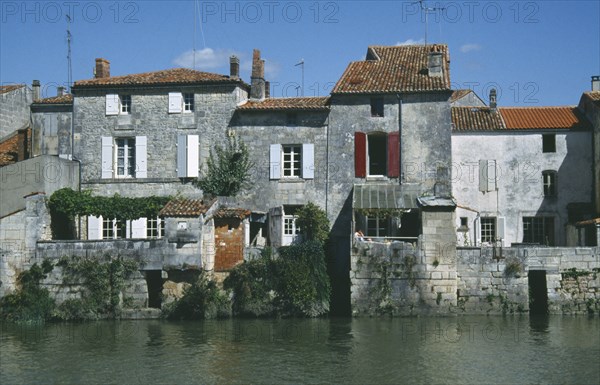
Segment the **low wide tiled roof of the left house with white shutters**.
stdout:
<path fill-rule="evenodd" d="M 210 72 L 195 71 L 188 68 L 173 68 L 163 71 L 145 72 L 125 76 L 111 76 L 108 78 L 97 78 L 79 80 L 73 85 L 74 88 L 97 87 L 97 86 L 140 86 L 155 84 L 194 84 L 194 83 L 226 83 L 242 82 L 232 79 L 226 75 Z"/>

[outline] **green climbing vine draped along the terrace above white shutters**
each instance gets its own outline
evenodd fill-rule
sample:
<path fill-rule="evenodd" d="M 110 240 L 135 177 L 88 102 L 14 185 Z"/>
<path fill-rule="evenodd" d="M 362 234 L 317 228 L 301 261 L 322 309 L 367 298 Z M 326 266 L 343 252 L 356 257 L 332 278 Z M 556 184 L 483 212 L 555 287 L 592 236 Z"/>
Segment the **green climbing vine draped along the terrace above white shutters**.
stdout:
<path fill-rule="evenodd" d="M 92 196 L 91 191 L 75 191 L 63 188 L 52 194 L 48 208 L 52 218 L 54 239 L 73 237 L 76 216 L 102 216 L 106 219 L 134 220 L 153 218 L 167 204 L 171 197 L 149 196 L 142 198 Z"/>

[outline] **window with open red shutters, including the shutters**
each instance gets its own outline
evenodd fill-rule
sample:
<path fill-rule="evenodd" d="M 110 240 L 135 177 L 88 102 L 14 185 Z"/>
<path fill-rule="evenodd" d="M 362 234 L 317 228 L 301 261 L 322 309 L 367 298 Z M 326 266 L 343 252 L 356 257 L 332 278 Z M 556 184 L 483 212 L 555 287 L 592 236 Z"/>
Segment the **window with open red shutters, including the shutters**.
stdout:
<path fill-rule="evenodd" d="M 357 178 L 400 175 L 399 132 L 355 132 L 354 174 Z"/>

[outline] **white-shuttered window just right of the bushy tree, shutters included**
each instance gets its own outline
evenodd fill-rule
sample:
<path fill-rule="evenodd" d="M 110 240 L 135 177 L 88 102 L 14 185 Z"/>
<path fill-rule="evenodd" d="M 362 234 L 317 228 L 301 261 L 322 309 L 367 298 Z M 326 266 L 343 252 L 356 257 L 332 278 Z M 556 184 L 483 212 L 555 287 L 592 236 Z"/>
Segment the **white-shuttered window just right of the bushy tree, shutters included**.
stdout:
<path fill-rule="evenodd" d="M 270 179 L 314 179 L 315 146 L 305 144 L 272 144 L 270 149 Z"/>

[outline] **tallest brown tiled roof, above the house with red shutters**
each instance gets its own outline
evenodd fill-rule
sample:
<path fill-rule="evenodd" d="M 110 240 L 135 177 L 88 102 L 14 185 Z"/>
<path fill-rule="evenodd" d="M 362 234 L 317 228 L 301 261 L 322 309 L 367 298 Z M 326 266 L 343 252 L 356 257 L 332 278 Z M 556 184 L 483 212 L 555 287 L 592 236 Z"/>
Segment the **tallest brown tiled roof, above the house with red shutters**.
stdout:
<path fill-rule="evenodd" d="M 443 54 L 443 75 L 428 75 L 428 54 Z M 352 62 L 332 93 L 386 93 L 450 90 L 450 58 L 446 45 L 369 47 L 367 60 Z"/>

